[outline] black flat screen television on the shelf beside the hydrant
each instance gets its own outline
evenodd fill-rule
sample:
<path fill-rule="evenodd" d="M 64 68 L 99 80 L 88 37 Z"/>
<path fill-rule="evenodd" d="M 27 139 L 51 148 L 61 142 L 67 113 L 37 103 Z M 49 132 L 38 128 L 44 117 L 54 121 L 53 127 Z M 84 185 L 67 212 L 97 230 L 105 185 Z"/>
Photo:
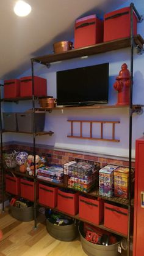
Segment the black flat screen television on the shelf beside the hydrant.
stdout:
<path fill-rule="evenodd" d="M 57 105 L 108 103 L 109 63 L 57 71 Z"/>

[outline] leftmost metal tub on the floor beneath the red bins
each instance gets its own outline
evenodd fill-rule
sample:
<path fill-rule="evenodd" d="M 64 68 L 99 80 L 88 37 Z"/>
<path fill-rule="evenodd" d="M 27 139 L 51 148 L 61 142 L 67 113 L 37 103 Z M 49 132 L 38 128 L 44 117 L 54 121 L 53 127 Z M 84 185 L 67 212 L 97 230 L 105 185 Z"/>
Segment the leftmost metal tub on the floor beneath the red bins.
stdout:
<path fill-rule="evenodd" d="M 10 212 L 12 217 L 21 222 L 30 222 L 34 220 L 34 207 L 29 206 L 26 208 L 18 208 L 15 206 L 10 206 Z"/>

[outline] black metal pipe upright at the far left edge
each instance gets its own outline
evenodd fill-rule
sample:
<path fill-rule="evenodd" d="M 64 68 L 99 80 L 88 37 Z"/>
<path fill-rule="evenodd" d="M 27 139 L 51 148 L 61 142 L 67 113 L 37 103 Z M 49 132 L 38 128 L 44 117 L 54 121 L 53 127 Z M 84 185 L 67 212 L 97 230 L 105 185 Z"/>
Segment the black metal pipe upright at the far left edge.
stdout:
<path fill-rule="evenodd" d="M 3 85 L 0 85 L 1 87 Z M 1 91 L 0 91 L 0 126 L 1 126 L 1 178 L 2 178 L 2 211 L 4 212 L 4 165 L 3 165 L 3 142 L 2 142 L 2 115 L 1 115 Z"/>

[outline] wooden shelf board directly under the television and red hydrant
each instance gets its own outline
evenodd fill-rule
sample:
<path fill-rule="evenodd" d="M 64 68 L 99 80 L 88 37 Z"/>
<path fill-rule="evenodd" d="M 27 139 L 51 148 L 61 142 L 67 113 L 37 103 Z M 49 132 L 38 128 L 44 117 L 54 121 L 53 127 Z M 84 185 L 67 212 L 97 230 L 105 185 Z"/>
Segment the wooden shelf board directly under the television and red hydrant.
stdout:
<path fill-rule="evenodd" d="M 35 108 L 35 112 L 46 112 L 46 111 L 57 111 L 57 110 L 81 110 L 81 109 L 117 109 L 117 108 L 126 108 L 129 107 L 129 105 L 93 105 L 93 106 L 70 106 L 70 107 L 37 107 Z M 134 109 L 141 109 L 143 105 L 133 105 Z"/>

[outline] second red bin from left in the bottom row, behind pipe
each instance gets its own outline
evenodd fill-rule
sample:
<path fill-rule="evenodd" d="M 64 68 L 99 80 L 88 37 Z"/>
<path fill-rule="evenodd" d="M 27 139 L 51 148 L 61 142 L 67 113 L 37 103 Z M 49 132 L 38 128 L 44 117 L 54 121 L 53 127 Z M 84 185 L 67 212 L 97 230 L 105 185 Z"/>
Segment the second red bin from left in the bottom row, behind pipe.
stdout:
<path fill-rule="evenodd" d="M 21 185 L 21 197 L 34 201 L 34 181 L 25 179 L 20 180 Z M 38 198 L 38 182 L 36 182 L 36 198 Z"/>

